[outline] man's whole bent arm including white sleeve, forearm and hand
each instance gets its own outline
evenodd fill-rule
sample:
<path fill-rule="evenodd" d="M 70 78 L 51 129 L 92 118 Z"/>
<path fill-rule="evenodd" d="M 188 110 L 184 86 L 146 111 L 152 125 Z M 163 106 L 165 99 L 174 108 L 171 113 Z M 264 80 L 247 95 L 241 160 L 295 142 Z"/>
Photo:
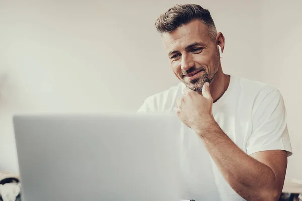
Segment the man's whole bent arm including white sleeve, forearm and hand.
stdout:
<path fill-rule="evenodd" d="M 283 99 L 276 90 L 262 92 L 265 97 L 253 113 L 247 153 L 215 121 L 207 83 L 202 95 L 185 88 L 175 108 L 182 122 L 201 137 L 225 180 L 246 200 L 278 200 L 286 173 L 287 154 L 291 154 Z"/>

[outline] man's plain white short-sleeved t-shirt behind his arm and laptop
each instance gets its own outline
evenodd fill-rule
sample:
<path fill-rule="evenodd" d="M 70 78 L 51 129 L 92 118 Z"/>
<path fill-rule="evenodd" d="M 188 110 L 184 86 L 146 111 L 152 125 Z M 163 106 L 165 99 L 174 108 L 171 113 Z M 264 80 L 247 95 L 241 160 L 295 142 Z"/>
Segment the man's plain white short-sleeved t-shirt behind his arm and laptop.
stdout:
<path fill-rule="evenodd" d="M 138 112 L 174 112 L 184 88 L 181 82 L 148 97 Z M 286 109 L 274 87 L 231 76 L 228 89 L 213 103 L 213 115 L 226 135 L 249 155 L 274 149 L 292 154 Z M 200 137 L 180 124 L 182 199 L 244 200 L 225 181 Z"/>

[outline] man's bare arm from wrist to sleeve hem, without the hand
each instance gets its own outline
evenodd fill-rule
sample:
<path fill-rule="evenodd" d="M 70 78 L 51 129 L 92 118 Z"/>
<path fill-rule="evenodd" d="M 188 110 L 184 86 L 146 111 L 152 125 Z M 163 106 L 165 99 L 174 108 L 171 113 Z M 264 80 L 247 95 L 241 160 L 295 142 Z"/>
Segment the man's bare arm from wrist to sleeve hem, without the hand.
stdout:
<path fill-rule="evenodd" d="M 202 138 L 209 154 L 229 185 L 246 200 L 278 200 L 282 192 L 287 153 L 244 153 L 213 120 Z"/>

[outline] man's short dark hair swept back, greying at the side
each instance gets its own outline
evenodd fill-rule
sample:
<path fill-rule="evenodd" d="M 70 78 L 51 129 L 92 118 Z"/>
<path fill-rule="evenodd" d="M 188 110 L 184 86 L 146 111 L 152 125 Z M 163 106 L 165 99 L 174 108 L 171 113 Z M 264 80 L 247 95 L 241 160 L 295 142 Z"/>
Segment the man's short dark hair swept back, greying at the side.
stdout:
<path fill-rule="evenodd" d="M 161 34 L 172 32 L 178 27 L 193 20 L 201 20 L 209 30 L 209 35 L 213 41 L 216 39 L 216 26 L 209 10 L 197 4 L 177 4 L 168 9 L 156 20 L 155 27 Z"/>

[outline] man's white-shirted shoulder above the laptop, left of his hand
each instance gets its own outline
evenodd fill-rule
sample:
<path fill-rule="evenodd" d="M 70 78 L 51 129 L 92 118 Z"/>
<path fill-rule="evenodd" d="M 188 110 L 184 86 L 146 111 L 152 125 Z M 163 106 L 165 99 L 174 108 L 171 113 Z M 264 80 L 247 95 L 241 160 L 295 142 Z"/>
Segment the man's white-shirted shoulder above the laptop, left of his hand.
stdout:
<path fill-rule="evenodd" d="M 185 85 L 180 82 L 164 91 L 150 95 L 145 99 L 140 110 L 145 108 L 145 110 L 152 112 L 172 111 L 175 106 L 176 99 L 181 96 L 184 87 Z"/>

